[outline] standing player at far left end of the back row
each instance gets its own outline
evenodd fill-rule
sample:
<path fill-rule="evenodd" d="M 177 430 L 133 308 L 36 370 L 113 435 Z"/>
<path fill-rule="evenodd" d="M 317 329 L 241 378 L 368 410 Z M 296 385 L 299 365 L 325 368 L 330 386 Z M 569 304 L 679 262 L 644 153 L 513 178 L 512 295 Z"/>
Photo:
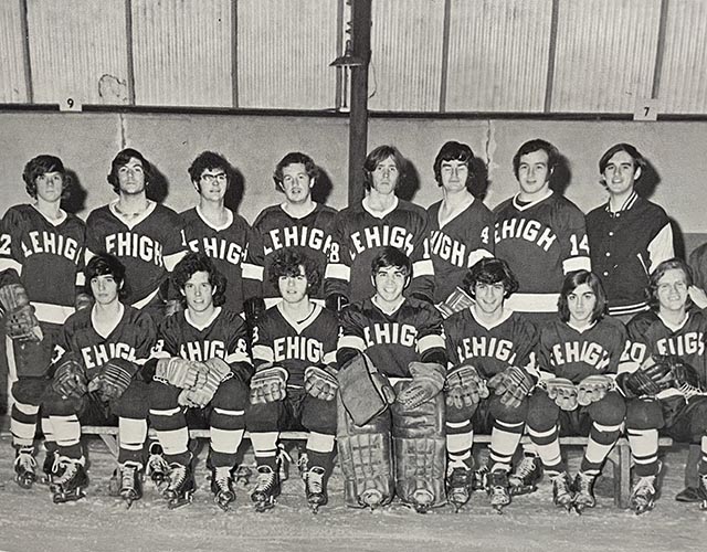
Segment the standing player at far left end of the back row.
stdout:
<path fill-rule="evenodd" d="M 10 208 L 0 223 L 0 304 L 15 380 L 10 417 L 15 480 L 30 488 L 38 477 L 34 434 L 52 350 L 61 325 L 85 302 L 76 293 L 83 287 L 85 225 L 61 208 L 72 185 L 61 159 L 38 156 L 22 178 L 32 203 Z M 46 421 L 42 429 L 44 471 L 51 478 L 55 443 Z"/>

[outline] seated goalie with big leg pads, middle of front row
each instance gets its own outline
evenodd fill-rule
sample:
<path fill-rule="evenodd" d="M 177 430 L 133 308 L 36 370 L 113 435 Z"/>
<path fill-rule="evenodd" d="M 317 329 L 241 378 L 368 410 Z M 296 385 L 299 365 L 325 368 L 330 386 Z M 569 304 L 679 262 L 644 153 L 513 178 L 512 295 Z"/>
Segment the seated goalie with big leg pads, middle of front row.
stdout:
<path fill-rule="evenodd" d="M 403 296 L 411 276 L 404 253 L 382 248 L 371 263 L 376 294 L 340 312 L 337 442 L 354 508 L 393 495 L 419 512 L 446 501 L 442 317 Z"/>

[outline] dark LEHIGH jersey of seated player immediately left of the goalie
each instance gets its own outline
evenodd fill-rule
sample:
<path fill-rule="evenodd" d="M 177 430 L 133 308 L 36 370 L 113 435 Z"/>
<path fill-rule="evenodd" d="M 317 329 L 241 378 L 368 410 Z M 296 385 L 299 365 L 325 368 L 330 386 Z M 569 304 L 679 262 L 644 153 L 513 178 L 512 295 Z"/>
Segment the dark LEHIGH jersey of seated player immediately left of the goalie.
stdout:
<path fill-rule="evenodd" d="M 287 386 L 303 388 L 308 367 L 336 368 L 336 315 L 313 304 L 304 320 L 291 320 L 282 304 L 268 308 L 253 330 L 253 363 L 273 363 L 287 370 Z"/>

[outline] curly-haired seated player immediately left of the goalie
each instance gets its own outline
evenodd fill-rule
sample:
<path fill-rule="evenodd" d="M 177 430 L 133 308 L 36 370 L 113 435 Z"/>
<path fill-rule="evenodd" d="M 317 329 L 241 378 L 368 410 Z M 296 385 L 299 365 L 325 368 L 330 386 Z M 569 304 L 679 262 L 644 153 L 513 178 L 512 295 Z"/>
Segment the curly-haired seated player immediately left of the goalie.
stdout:
<path fill-rule="evenodd" d="M 279 495 L 279 432 L 309 432 L 306 458 L 300 458 L 307 502 L 313 511 L 328 501 L 336 435 L 336 315 L 309 297 L 321 276 L 317 263 L 302 250 L 278 251 L 270 265 L 271 284 L 282 301 L 261 317 L 253 337 L 255 374 L 246 427 L 255 450 L 255 509 L 273 508 Z"/>

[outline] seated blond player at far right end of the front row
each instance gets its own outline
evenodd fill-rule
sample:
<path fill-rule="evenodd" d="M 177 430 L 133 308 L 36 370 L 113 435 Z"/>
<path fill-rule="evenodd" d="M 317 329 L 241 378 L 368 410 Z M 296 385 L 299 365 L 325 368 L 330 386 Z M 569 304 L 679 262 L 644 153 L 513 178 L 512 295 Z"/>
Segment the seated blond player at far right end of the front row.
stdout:
<path fill-rule="evenodd" d="M 651 275 L 651 310 L 626 326 L 627 361 L 618 382 L 626 395 L 626 433 L 635 460 L 631 507 L 653 509 L 661 471 L 658 432 L 679 443 L 701 444 L 699 490 L 707 508 L 707 318 L 692 308 L 693 279 L 680 259 L 664 261 Z"/>

